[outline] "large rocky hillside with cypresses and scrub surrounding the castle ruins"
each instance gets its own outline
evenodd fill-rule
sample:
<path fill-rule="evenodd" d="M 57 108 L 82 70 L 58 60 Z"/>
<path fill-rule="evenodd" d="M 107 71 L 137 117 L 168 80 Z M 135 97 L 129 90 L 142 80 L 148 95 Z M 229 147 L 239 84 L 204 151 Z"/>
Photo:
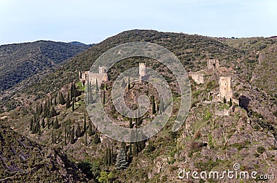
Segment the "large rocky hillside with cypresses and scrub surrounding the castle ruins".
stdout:
<path fill-rule="evenodd" d="M 92 131 L 89 130 L 91 121 L 88 117 L 84 119 L 88 115 L 84 87 L 78 82 L 78 71 L 89 70 L 103 52 L 129 41 L 150 41 L 164 46 L 177 55 L 187 72 L 199 71 L 204 75 L 202 84 L 190 78 L 190 113 L 176 133 L 171 131 L 180 104 L 176 80 L 163 64 L 141 57 L 124 59 L 111 68 L 111 81 L 102 86 L 102 100 L 105 90 L 105 110 L 122 126 L 143 126 L 150 122 L 151 110 L 140 119 L 132 119 L 130 125 L 130 119 L 114 111 L 110 99 L 112 80 L 123 70 L 145 62 L 166 78 L 172 90 L 174 105 L 169 122 L 154 137 L 134 144 L 116 142 L 93 127 Z M 277 98 L 276 90 L 272 89 L 276 87 L 275 48 L 276 39 L 262 37 L 217 39 L 154 30 L 122 32 L 61 64 L 32 86 L 22 88 L 12 96 L 20 107 L 3 112 L 0 117 L 2 123 L 12 126 L 18 133 L 48 148 L 62 148 L 91 181 L 258 182 L 259 178 L 195 180 L 190 177 L 180 180 L 178 173 L 184 168 L 199 172 L 233 171 L 233 164 L 240 164 L 240 171 L 277 175 Z M 208 71 L 208 59 L 218 59 L 220 67 L 225 68 Z M 231 102 L 217 99 L 220 75 L 231 76 Z M 73 87 L 72 81 L 76 87 Z M 131 86 L 125 91 L 128 106 L 135 108 L 134 100 L 142 93 L 148 97 L 153 95 L 155 104 L 159 106 L 161 100 L 153 87 L 140 83 L 132 83 Z M 75 97 L 71 95 L 72 87 L 78 91 Z M 60 102 L 61 95 L 66 102 Z M 227 111 L 227 115 L 222 111 Z M 31 130 L 30 122 L 34 121 L 39 128 Z M 56 121 L 57 125 L 54 125 Z"/>

